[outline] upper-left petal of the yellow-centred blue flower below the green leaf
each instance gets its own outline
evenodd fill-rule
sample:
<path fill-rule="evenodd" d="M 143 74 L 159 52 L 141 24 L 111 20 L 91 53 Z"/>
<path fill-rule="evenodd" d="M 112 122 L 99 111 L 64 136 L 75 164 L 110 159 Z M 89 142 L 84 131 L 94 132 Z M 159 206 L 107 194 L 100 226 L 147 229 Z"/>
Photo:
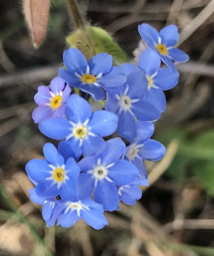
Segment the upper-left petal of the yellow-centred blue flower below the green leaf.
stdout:
<path fill-rule="evenodd" d="M 63 61 L 67 70 L 76 71 L 79 74 L 85 74 L 87 61 L 84 55 L 76 48 L 70 48 L 63 53 Z"/>

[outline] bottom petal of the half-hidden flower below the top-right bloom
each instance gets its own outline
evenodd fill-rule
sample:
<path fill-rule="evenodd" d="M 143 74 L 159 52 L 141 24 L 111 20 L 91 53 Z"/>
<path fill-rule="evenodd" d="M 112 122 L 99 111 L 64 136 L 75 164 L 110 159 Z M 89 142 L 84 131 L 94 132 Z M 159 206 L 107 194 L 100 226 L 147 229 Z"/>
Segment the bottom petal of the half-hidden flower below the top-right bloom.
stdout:
<path fill-rule="evenodd" d="M 151 87 L 147 91 L 144 100 L 154 105 L 161 113 L 166 109 L 166 97 L 159 88 Z"/>

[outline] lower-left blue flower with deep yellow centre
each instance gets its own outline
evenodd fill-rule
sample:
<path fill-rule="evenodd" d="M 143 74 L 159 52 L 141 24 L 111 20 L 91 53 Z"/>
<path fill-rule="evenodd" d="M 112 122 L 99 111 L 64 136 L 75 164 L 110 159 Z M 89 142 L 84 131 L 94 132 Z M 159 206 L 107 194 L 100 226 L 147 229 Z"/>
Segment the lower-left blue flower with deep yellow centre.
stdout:
<path fill-rule="evenodd" d="M 37 184 L 36 193 L 40 197 L 54 198 L 58 195 L 64 200 L 76 198 L 77 177 L 80 169 L 74 158 L 66 161 L 51 143 L 43 147 L 45 160 L 30 160 L 25 170 Z"/>

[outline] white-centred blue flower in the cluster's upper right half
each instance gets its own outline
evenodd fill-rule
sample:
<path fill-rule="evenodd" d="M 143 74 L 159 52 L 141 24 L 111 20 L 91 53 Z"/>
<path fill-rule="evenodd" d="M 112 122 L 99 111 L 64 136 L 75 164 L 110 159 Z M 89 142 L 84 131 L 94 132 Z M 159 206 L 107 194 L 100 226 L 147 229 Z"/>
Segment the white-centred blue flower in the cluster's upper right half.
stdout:
<path fill-rule="evenodd" d="M 136 137 L 135 118 L 152 122 L 160 117 L 159 110 L 143 99 L 147 88 L 147 79 L 142 71 L 138 71 L 129 74 L 127 84 L 117 88 L 117 91 L 107 92 L 105 108 L 118 114 L 117 133 L 129 141 Z"/>

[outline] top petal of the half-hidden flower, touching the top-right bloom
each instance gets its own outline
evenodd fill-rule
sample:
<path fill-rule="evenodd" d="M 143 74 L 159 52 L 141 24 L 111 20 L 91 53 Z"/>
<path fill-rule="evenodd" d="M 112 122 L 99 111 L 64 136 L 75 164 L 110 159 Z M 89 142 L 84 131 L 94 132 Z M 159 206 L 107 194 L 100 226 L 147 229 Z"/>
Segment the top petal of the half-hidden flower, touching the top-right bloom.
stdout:
<path fill-rule="evenodd" d="M 145 76 L 152 76 L 161 65 L 159 54 L 152 49 L 145 49 L 140 55 L 138 66 L 143 70 Z"/>

